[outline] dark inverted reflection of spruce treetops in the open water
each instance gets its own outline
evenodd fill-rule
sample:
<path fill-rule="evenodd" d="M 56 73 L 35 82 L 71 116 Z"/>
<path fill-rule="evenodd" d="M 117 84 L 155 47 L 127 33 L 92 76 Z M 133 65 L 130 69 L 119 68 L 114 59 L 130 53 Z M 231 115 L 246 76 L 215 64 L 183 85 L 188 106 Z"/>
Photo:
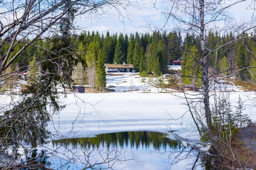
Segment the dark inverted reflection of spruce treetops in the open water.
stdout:
<path fill-rule="evenodd" d="M 64 146 L 82 146 L 82 147 L 131 147 L 139 149 L 143 147 L 145 149 L 153 147 L 154 150 L 159 150 L 163 148 L 180 148 L 181 143 L 176 140 L 171 140 L 166 137 L 167 134 L 159 132 L 117 132 L 117 133 L 105 133 L 96 135 L 96 137 L 91 138 L 73 138 L 73 139 L 61 139 L 57 141 L 52 141 L 52 145 L 57 147 L 59 145 Z"/>

